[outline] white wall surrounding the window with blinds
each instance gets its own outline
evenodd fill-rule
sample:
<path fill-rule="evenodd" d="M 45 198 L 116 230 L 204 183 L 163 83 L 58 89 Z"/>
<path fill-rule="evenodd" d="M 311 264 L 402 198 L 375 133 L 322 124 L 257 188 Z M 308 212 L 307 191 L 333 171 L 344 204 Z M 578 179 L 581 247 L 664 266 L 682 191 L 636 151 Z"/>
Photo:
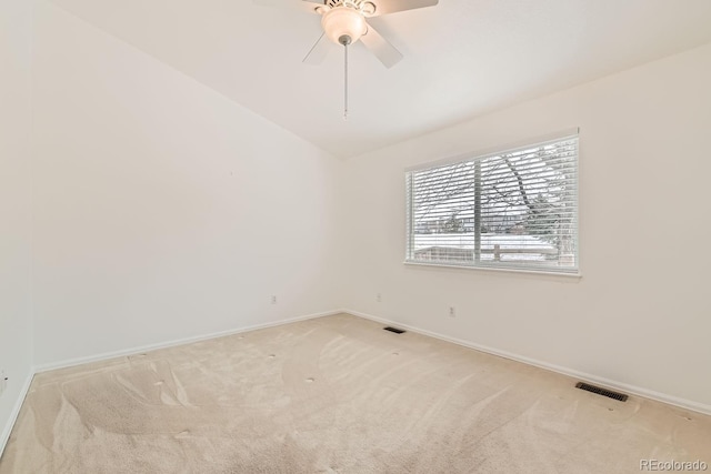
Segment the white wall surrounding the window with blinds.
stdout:
<path fill-rule="evenodd" d="M 710 411 L 709 84 L 705 46 L 349 160 L 347 306 Z M 402 264 L 403 168 L 578 125 L 582 279 Z"/>

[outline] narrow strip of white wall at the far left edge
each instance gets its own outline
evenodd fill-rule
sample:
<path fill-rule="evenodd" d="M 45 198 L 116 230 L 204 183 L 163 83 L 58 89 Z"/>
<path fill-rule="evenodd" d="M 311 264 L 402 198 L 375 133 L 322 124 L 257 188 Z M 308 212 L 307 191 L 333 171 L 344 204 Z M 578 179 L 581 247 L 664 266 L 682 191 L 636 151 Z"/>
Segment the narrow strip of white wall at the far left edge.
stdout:
<path fill-rule="evenodd" d="M 32 373 L 30 2 L 0 0 L 0 451 Z M 1 383 L 1 381 L 0 381 Z"/>

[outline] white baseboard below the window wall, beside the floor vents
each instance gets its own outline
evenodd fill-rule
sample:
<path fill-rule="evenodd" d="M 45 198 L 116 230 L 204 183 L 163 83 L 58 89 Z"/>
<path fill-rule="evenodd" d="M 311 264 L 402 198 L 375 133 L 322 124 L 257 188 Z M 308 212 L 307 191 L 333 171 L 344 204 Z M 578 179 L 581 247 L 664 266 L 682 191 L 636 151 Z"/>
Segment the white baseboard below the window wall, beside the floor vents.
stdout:
<path fill-rule="evenodd" d="M 625 392 L 629 394 L 642 396 L 645 399 L 655 400 L 658 402 L 667 403 L 669 405 L 674 405 L 680 409 L 690 410 L 692 412 L 703 413 L 705 415 L 711 415 L 711 405 L 693 402 L 691 400 L 681 399 L 673 395 L 668 395 L 665 393 L 654 392 L 652 390 L 643 389 L 641 386 L 630 385 L 623 382 L 600 377 L 593 374 L 588 374 L 584 372 L 575 371 L 573 369 L 563 367 L 561 365 L 549 364 L 547 362 L 537 361 L 534 359 L 525 357 L 519 354 L 513 354 L 507 351 L 499 351 L 498 349 L 488 347 L 485 345 L 475 344 L 473 342 L 464 341 L 457 337 L 450 337 L 443 334 L 439 334 L 432 331 L 422 330 L 419 327 L 410 326 L 408 324 L 401 324 L 398 321 L 387 320 L 384 317 L 373 316 L 372 314 L 361 313 L 359 311 L 352 310 L 341 310 L 343 313 L 352 314 L 354 316 L 363 317 L 365 320 L 375 321 L 378 323 L 393 325 L 397 327 L 402 327 L 408 331 L 412 331 L 418 334 L 428 335 L 434 339 L 439 339 L 442 341 L 451 342 L 458 345 L 462 345 L 464 347 L 473 349 L 477 351 L 485 352 L 488 354 L 498 355 L 500 357 L 509 359 L 517 362 L 522 362 L 524 364 L 534 365 L 537 367 L 545 369 L 552 372 L 557 372 L 559 374 L 568 375 L 574 379 L 580 379 L 585 382 L 592 382 L 598 385 L 604 385 L 608 389 Z"/>

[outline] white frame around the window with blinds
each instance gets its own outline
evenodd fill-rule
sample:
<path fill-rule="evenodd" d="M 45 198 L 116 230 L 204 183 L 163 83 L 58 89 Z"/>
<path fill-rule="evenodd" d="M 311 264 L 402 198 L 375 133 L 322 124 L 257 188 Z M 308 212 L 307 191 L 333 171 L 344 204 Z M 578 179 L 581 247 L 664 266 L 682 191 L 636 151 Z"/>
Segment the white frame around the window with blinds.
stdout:
<path fill-rule="evenodd" d="M 574 157 L 574 219 L 573 219 L 573 245 L 574 245 L 574 265 L 573 266 L 525 266 L 523 264 L 507 264 L 505 262 L 482 262 L 482 261 L 438 261 L 438 260 L 418 260 L 412 256 L 414 252 L 414 206 L 413 199 L 414 192 L 412 186 L 412 175 L 418 171 L 431 170 L 434 168 L 447 167 L 458 163 L 467 163 L 474 161 L 483 161 L 488 158 L 501 157 L 512 154 L 527 149 L 537 147 L 543 147 L 548 143 L 555 143 L 565 140 L 577 141 L 577 153 Z M 580 278 L 581 261 L 580 261 L 580 129 L 568 129 L 559 131 L 557 133 L 548 134 L 544 137 L 538 137 L 534 139 L 522 140 L 515 143 L 511 143 L 505 147 L 495 147 L 483 151 L 474 151 L 462 153 L 455 157 L 450 157 L 443 160 L 435 160 L 425 163 L 421 163 L 414 167 L 404 169 L 404 188 L 405 188 L 405 258 L 403 263 L 405 265 L 425 266 L 425 268 L 447 268 L 447 269 L 462 269 L 462 270 L 484 270 L 495 272 L 514 272 L 514 273 L 532 273 L 541 275 L 555 275 L 555 276 L 573 276 Z"/>

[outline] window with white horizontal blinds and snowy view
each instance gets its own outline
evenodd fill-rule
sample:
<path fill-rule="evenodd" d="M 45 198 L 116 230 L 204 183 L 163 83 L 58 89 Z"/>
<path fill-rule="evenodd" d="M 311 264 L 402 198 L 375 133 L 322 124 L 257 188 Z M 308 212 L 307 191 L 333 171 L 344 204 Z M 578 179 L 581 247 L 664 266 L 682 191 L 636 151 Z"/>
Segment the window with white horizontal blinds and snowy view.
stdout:
<path fill-rule="evenodd" d="M 578 273 L 578 135 L 408 171 L 408 263 Z"/>

